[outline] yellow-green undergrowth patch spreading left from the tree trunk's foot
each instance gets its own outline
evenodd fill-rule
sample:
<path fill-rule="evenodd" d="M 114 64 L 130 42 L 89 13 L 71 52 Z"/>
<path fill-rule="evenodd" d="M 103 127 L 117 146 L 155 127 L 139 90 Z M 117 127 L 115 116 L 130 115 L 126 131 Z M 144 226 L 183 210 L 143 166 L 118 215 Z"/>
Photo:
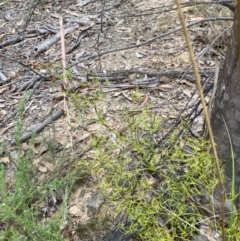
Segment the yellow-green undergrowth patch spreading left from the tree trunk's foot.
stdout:
<path fill-rule="evenodd" d="M 130 95 L 138 96 L 134 91 Z M 108 113 L 118 120 L 112 126 L 111 115 L 100 104 L 101 89 L 91 97 L 86 108 L 95 110 L 95 121 L 102 127 L 95 138 L 100 141 L 87 161 L 83 157 L 79 163 L 91 170 L 105 197 L 102 209 L 119 229 L 149 241 L 204 237 L 203 224 L 219 232 L 221 215 L 211 203 L 218 179 L 209 142 L 191 137 L 187 120 L 182 120 L 158 145 L 158 134 L 168 128 L 151 105 L 141 111 L 110 107 Z M 85 97 L 78 98 L 81 102 Z M 199 203 L 204 199 L 208 205 Z M 123 216 L 130 225 L 118 222 Z"/>

